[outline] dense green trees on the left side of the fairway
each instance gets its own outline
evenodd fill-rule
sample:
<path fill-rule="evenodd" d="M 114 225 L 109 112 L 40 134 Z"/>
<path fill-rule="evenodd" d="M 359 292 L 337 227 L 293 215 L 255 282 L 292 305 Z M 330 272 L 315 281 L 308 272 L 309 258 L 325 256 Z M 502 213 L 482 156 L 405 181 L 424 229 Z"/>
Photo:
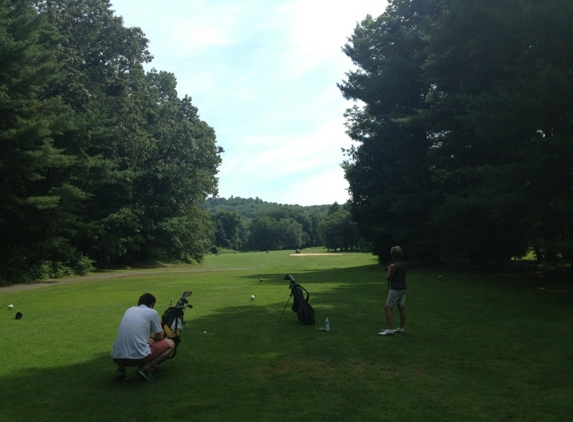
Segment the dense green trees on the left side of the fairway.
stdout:
<path fill-rule="evenodd" d="M 107 0 L 0 0 L 0 284 L 210 244 L 221 148 Z"/>

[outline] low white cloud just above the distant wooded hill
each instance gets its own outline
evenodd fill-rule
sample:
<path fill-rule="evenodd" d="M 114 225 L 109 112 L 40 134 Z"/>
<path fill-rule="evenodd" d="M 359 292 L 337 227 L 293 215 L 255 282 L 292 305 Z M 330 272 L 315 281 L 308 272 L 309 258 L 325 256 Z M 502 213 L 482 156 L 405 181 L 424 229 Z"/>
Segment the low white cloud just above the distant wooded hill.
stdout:
<path fill-rule="evenodd" d="M 347 144 L 342 117 L 301 137 L 244 140 L 241 151 L 223 157 L 220 194 L 299 205 L 343 203 L 348 183 L 341 148 Z"/>

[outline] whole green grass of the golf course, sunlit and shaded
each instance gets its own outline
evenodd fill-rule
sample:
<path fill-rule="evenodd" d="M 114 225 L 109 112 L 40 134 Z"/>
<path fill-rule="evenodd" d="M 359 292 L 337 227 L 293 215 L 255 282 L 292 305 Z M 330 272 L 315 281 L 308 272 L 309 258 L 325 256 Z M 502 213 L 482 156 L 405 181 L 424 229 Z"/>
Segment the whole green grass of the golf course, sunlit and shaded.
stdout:
<path fill-rule="evenodd" d="M 316 326 L 292 302 L 278 322 L 287 273 L 310 292 Z M 224 254 L 118 274 L 0 289 L 15 306 L 3 311 L 0 421 L 539 422 L 573 411 L 573 300 L 534 280 L 411 268 L 407 333 L 388 338 L 377 334 L 385 273 L 367 254 Z M 125 309 L 149 291 L 161 313 L 188 289 L 198 362 L 184 335 L 155 382 L 131 369 L 117 383 L 109 353 Z M 327 316 L 331 332 L 316 331 Z"/>

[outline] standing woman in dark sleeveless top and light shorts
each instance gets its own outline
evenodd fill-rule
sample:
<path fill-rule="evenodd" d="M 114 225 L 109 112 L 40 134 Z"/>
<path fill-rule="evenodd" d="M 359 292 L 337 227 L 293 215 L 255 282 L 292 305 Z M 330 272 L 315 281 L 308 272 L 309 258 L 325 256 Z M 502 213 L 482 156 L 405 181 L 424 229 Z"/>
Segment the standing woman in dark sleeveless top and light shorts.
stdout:
<path fill-rule="evenodd" d="M 387 279 L 390 283 L 388 290 L 388 298 L 386 299 L 386 329 L 380 331 L 378 334 L 381 336 L 393 335 L 394 333 L 404 333 L 404 325 L 406 324 L 406 263 L 402 261 L 402 248 L 394 246 L 390 249 L 390 255 L 394 262 L 388 266 Z M 394 315 L 392 308 L 394 305 L 398 306 L 400 312 L 400 327 L 393 329 Z"/>

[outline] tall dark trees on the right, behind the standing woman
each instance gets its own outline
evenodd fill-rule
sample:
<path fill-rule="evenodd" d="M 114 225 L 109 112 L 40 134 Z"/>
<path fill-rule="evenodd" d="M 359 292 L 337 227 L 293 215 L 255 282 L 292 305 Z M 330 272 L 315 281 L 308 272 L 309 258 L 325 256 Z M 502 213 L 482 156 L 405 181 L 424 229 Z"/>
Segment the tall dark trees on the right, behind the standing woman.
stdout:
<path fill-rule="evenodd" d="M 350 211 L 381 256 L 573 262 L 573 3 L 393 0 L 344 47 Z"/>

